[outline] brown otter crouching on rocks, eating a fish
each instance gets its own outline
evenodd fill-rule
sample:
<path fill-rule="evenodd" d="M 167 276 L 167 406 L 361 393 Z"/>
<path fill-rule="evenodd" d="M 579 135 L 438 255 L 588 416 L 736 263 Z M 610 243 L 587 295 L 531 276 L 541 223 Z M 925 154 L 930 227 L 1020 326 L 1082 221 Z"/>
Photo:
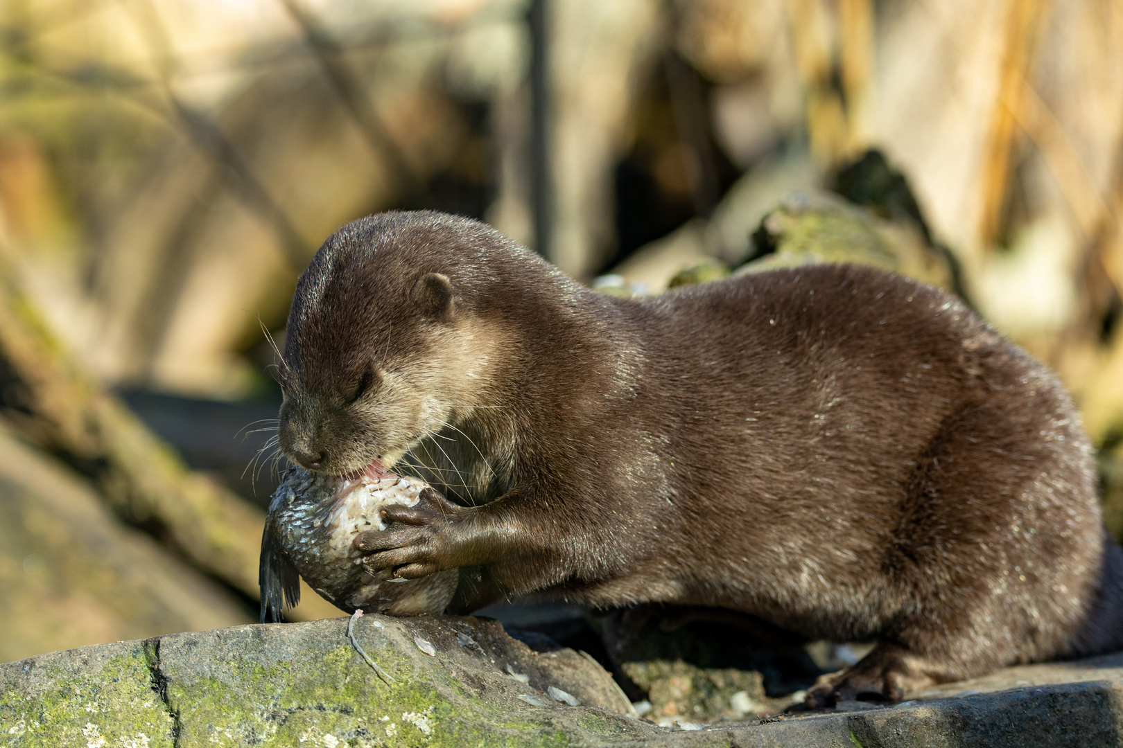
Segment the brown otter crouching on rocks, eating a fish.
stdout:
<path fill-rule="evenodd" d="M 301 276 L 284 453 L 412 464 L 372 570 L 460 567 L 451 609 L 547 593 L 876 639 L 811 704 L 1123 647 L 1123 552 L 1057 380 L 880 270 L 594 293 L 475 221 L 385 213 Z"/>

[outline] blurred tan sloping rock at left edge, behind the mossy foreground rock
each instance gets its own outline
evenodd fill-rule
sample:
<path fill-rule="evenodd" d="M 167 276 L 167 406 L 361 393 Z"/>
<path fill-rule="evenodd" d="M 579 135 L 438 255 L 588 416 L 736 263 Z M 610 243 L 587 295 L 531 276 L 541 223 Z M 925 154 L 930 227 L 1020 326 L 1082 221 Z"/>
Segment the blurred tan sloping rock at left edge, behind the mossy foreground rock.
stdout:
<path fill-rule="evenodd" d="M 118 521 L 66 465 L 2 428 L 0 589 L 0 662 L 253 620 L 221 585 Z"/>

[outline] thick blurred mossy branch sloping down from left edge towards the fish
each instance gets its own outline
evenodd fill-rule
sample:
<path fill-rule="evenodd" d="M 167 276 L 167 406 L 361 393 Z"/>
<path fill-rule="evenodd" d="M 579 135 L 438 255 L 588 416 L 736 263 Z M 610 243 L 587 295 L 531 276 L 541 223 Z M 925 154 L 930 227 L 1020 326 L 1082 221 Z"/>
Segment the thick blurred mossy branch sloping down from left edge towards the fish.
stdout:
<path fill-rule="evenodd" d="M 86 378 L 18 289 L 11 268 L 2 270 L 0 414 L 90 477 L 118 515 L 256 598 L 262 512 L 191 472 L 124 403 Z"/>

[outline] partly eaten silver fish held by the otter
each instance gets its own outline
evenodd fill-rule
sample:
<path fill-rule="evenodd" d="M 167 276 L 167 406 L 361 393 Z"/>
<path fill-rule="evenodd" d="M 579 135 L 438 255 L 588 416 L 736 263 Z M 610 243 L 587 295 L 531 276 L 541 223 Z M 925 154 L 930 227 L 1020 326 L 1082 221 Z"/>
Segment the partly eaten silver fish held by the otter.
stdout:
<path fill-rule="evenodd" d="M 391 570 L 368 572 L 355 536 L 384 530 L 381 509 L 390 504 L 414 506 L 429 489 L 420 478 L 402 478 L 367 470 L 357 478 L 320 475 L 291 468 L 273 493 L 258 584 L 261 620 L 281 620 L 283 608 L 300 601 L 300 578 L 320 597 L 354 612 L 391 616 L 437 615 L 451 601 L 459 581 L 456 569 L 416 580 L 393 576 Z"/>

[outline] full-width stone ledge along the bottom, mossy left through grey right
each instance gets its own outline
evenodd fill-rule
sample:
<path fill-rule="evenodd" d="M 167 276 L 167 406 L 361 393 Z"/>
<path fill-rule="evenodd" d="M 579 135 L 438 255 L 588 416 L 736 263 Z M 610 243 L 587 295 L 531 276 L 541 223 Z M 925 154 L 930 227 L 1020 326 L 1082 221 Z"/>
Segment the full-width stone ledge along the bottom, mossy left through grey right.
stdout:
<path fill-rule="evenodd" d="M 359 619 L 357 640 L 393 683 L 346 630 L 341 618 L 240 626 L 0 665 L 0 744 L 1096 748 L 1123 736 L 1123 654 L 1007 668 L 897 707 L 659 728 L 624 717 L 630 704 L 587 657 L 536 653 L 497 621 Z"/>

